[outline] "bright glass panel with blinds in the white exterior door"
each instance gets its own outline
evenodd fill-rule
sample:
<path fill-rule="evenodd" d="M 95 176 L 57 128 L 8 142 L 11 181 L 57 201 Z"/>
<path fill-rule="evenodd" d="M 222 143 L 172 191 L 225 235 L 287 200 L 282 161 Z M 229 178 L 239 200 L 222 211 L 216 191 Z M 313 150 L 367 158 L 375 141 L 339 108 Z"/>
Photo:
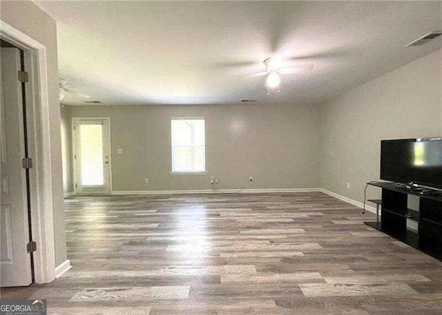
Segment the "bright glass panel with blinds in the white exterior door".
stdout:
<path fill-rule="evenodd" d="M 104 185 L 102 125 L 79 125 L 81 185 Z"/>

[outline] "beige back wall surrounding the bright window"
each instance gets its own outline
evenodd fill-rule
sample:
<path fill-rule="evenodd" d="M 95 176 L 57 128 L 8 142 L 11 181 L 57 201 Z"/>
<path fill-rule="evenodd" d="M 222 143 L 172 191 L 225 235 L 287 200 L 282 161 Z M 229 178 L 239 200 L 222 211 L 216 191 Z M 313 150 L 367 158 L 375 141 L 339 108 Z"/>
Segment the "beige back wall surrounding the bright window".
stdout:
<path fill-rule="evenodd" d="M 219 189 L 319 187 L 319 109 L 260 103 L 70 106 L 69 114 L 111 117 L 114 191 L 209 190 L 210 174 Z M 170 120 L 176 116 L 205 117 L 209 174 L 169 174 Z"/>

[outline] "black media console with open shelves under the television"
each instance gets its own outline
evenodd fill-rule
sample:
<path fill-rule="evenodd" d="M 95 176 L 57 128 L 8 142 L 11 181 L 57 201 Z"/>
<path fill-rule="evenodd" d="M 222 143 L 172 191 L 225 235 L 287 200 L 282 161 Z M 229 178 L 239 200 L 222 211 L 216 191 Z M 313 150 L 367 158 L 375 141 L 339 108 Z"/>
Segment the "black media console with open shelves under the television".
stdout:
<path fill-rule="evenodd" d="M 442 194 L 395 183 L 370 185 L 382 188 L 381 200 L 369 200 L 381 207 L 381 222 L 365 224 L 442 261 Z M 421 197 L 419 212 L 407 208 L 409 194 Z M 407 219 L 418 222 L 417 232 L 407 230 Z"/>

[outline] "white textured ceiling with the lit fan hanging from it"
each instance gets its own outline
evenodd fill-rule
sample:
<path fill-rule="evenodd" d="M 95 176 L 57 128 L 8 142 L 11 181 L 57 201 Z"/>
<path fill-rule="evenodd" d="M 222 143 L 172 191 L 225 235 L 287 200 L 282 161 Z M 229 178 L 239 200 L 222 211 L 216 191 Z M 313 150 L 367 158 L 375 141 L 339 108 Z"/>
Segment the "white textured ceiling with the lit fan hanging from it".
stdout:
<path fill-rule="evenodd" d="M 441 1 L 39 1 L 57 20 L 60 77 L 105 105 L 318 103 L 441 48 Z M 282 75 L 267 96 L 262 61 Z M 66 94 L 67 105 L 84 105 Z"/>

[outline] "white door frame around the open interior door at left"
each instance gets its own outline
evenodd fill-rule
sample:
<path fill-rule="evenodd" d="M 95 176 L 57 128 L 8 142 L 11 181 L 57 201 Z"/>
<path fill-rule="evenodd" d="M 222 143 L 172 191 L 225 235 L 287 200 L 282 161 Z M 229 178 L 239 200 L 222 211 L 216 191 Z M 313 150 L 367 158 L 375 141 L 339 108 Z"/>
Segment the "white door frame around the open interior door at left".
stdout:
<path fill-rule="evenodd" d="M 34 175 L 30 176 L 31 230 L 38 248 L 34 252 L 35 283 L 50 283 L 55 279 L 56 266 L 46 46 L 1 19 L 0 34 L 23 50 L 28 68 L 26 116 L 27 128 L 30 131 L 29 154 L 33 159 Z"/>

